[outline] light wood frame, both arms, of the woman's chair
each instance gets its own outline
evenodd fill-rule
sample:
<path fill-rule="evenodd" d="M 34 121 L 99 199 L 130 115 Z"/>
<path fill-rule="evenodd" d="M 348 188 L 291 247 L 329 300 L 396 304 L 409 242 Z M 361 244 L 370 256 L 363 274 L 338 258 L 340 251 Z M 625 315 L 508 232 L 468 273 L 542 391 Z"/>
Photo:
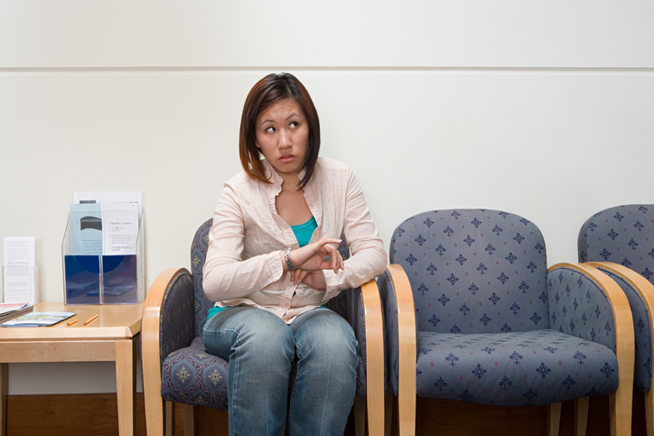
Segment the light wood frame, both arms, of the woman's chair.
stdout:
<path fill-rule="evenodd" d="M 172 403 L 161 395 L 162 367 L 160 355 L 160 325 L 162 303 L 172 283 L 182 274 L 191 273 L 186 268 L 169 268 L 159 274 L 145 298 L 141 325 L 143 389 L 145 396 L 145 424 L 148 435 L 173 434 Z M 355 402 L 355 415 L 367 407 L 369 434 L 384 434 L 384 325 L 381 300 L 377 283 L 370 280 L 350 292 L 361 292 L 366 335 L 366 402 Z M 192 320 L 190 320 L 192 322 Z M 184 434 L 194 434 L 193 406 L 182 405 Z M 364 415 L 365 416 L 365 415 Z M 355 417 L 357 434 L 365 431 L 365 418 Z"/>

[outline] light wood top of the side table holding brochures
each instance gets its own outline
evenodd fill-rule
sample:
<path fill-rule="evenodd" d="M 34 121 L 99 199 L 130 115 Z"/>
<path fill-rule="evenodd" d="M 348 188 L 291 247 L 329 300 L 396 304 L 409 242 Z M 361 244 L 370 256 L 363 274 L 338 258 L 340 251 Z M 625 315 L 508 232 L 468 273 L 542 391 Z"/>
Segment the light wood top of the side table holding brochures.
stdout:
<path fill-rule="evenodd" d="M 2 327 L 0 341 L 24 339 L 128 339 L 141 330 L 144 303 L 64 305 L 63 302 L 42 302 L 34 311 L 74 311 L 75 316 L 51 327 Z M 84 321 L 98 315 L 89 325 Z M 78 320 L 69 326 L 71 320 Z"/>

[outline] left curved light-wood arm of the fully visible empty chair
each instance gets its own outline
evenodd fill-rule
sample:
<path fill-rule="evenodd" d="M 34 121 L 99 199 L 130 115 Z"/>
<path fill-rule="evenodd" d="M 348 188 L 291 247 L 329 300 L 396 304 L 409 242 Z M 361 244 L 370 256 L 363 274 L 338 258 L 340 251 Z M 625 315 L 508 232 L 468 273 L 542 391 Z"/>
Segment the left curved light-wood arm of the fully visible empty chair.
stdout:
<path fill-rule="evenodd" d="M 399 434 L 416 434 L 416 309 L 404 268 L 387 266 L 397 301 L 397 417 Z"/>

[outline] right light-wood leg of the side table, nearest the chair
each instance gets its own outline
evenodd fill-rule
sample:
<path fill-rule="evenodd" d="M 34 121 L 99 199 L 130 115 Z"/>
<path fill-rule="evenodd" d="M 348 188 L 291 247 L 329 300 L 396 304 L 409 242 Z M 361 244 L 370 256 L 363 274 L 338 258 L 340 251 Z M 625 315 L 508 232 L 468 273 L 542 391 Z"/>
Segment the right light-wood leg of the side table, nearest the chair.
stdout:
<path fill-rule="evenodd" d="M 132 339 L 116 341 L 118 434 L 136 434 L 136 354 Z"/>

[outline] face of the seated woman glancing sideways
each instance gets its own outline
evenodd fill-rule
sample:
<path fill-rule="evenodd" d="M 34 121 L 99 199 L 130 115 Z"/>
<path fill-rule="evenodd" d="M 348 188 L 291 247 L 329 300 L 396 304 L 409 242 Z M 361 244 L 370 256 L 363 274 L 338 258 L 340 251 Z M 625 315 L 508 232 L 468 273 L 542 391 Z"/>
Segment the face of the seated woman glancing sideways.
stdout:
<path fill-rule="evenodd" d="M 282 178 L 299 180 L 306 157 L 309 125 L 292 98 L 274 104 L 257 118 L 257 148 Z M 293 179 L 292 179 L 293 178 Z"/>

